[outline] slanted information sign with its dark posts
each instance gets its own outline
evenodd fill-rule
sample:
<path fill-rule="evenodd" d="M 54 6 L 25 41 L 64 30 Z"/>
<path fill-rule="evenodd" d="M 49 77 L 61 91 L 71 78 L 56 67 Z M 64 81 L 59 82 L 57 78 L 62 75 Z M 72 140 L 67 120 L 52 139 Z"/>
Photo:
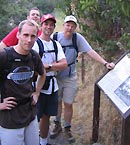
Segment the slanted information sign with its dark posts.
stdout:
<path fill-rule="evenodd" d="M 112 101 L 122 115 L 121 145 L 130 145 L 130 51 L 116 62 L 95 83 L 92 140 L 97 142 L 99 130 L 100 90 Z"/>

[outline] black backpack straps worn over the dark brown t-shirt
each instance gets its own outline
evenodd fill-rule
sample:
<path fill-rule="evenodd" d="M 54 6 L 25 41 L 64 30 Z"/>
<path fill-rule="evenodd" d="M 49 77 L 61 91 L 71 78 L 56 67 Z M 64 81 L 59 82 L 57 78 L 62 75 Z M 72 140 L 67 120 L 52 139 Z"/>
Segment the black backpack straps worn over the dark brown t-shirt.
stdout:
<path fill-rule="evenodd" d="M 12 47 L 4 48 L 7 53 L 7 61 L 4 65 L 2 71 L 0 71 L 0 93 L 3 92 L 4 81 L 7 79 L 7 75 L 11 72 L 11 68 L 14 62 L 19 62 L 19 59 L 13 57 Z M 30 51 L 32 55 L 32 60 L 34 63 L 34 67 L 36 66 L 36 56 L 33 50 Z M 35 74 L 34 74 L 35 75 Z M 34 88 L 35 89 L 35 88 Z"/>

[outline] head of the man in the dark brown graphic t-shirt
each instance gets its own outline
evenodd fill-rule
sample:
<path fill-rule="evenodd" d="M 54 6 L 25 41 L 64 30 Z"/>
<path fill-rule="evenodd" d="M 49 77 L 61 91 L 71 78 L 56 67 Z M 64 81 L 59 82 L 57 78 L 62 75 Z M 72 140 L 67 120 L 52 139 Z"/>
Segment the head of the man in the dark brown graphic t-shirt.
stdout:
<path fill-rule="evenodd" d="M 30 51 L 37 39 L 37 28 L 35 26 L 24 24 L 21 32 L 18 32 L 17 37 L 19 39 L 18 45 L 20 48 L 23 51 Z"/>

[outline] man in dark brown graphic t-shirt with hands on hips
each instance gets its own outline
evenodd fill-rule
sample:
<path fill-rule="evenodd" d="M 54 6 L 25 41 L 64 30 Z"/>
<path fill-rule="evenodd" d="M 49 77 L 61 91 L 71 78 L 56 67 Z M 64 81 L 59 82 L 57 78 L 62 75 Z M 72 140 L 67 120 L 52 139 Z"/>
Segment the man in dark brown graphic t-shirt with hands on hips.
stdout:
<path fill-rule="evenodd" d="M 46 73 L 39 54 L 32 50 L 38 29 L 35 21 L 22 21 L 18 44 L 0 50 L 0 73 L 4 78 L 1 104 L 6 105 L 0 110 L 2 145 L 39 145 L 36 103 Z M 34 88 L 35 74 L 38 77 Z"/>

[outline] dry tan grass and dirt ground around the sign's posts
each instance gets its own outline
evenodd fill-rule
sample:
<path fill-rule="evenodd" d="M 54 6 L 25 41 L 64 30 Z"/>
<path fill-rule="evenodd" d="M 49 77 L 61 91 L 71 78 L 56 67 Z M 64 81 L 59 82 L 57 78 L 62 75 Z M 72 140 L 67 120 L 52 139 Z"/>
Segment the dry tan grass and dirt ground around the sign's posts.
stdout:
<path fill-rule="evenodd" d="M 73 105 L 72 119 L 72 131 L 76 141 L 71 145 L 120 145 L 122 119 L 119 112 L 103 93 L 101 93 L 100 100 L 99 138 L 97 143 L 92 143 L 94 83 L 103 74 L 104 67 L 94 61 L 88 61 L 84 83 L 81 82 L 81 70 L 78 70 L 79 91 Z M 50 129 L 54 125 L 53 120 L 54 118 L 51 118 Z M 64 132 L 61 132 L 55 139 L 49 139 L 49 143 L 52 145 L 70 145 Z"/>

